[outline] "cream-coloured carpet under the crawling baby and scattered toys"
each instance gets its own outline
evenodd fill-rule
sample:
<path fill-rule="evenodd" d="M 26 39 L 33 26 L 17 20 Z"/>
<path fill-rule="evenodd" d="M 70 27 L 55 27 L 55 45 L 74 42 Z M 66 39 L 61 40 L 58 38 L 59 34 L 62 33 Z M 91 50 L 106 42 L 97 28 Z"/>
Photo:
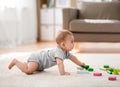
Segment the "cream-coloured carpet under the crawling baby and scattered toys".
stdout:
<path fill-rule="evenodd" d="M 86 62 L 103 76 L 95 77 L 93 72 L 89 74 L 77 74 L 76 65 L 65 60 L 65 69 L 70 76 L 60 76 L 57 66 L 46 69 L 43 72 L 36 72 L 33 75 L 26 75 L 14 67 L 8 70 L 7 66 L 12 58 L 16 57 L 26 61 L 30 53 L 9 53 L 0 55 L 0 87 L 120 87 L 120 75 L 116 81 L 109 81 L 110 76 L 99 68 L 104 64 L 120 68 L 120 54 L 75 54 L 80 60 Z"/>

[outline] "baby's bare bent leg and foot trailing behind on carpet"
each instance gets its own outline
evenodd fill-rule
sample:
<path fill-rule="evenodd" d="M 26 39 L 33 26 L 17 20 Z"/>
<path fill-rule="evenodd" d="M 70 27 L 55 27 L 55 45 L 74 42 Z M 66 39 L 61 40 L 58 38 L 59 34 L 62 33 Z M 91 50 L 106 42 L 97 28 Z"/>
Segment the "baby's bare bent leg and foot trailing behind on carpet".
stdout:
<path fill-rule="evenodd" d="M 18 61 L 17 59 L 13 59 L 8 68 L 11 69 L 14 65 L 16 65 L 22 72 L 26 74 L 32 74 L 34 71 L 37 70 L 39 66 L 37 62 L 23 63 Z"/>

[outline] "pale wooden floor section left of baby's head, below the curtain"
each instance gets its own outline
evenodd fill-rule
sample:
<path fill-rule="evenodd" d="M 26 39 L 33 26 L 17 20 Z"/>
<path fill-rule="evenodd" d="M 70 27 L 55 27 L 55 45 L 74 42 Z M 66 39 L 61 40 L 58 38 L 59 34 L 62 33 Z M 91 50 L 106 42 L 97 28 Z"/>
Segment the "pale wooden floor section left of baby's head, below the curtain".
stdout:
<path fill-rule="evenodd" d="M 21 45 L 14 48 L 0 48 L 0 54 L 11 53 L 11 52 L 32 52 L 43 48 L 55 47 L 55 42 L 38 42 L 34 44 Z"/>

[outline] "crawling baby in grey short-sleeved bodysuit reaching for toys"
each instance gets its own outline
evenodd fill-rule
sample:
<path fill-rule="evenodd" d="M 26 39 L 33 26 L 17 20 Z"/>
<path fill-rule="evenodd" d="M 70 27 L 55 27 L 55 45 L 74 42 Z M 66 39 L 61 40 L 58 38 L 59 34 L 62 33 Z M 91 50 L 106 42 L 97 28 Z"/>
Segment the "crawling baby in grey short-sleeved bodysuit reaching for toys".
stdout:
<path fill-rule="evenodd" d="M 85 63 L 79 61 L 74 55 L 69 53 L 74 47 L 74 36 L 70 31 L 62 30 L 56 37 L 57 47 L 53 49 L 43 49 L 31 54 L 27 63 L 13 59 L 8 68 L 17 66 L 22 72 L 32 74 L 35 71 L 43 71 L 54 65 L 58 66 L 60 75 L 70 75 L 64 69 L 64 59 L 70 59 L 78 66 L 84 66 Z"/>

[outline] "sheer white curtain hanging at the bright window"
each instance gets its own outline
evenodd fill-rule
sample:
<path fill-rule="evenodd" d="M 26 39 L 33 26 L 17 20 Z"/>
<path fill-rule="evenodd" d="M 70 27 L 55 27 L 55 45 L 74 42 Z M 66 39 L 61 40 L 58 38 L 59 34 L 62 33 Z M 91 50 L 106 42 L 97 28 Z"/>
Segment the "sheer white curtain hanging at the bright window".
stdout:
<path fill-rule="evenodd" d="M 34 43 L 36 0 L 0 0 L 0 48 Z"/>

